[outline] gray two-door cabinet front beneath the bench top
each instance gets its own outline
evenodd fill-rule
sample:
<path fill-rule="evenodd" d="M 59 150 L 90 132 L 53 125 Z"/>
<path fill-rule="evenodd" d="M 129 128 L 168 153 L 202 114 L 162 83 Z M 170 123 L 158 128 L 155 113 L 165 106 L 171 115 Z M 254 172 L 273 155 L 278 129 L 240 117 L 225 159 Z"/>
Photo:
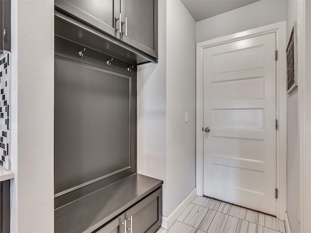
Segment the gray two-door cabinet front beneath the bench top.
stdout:
<path fill-rule="evenodd" d="M 155 233 L 162 223 L 162 187 L 94 233 Z"/>

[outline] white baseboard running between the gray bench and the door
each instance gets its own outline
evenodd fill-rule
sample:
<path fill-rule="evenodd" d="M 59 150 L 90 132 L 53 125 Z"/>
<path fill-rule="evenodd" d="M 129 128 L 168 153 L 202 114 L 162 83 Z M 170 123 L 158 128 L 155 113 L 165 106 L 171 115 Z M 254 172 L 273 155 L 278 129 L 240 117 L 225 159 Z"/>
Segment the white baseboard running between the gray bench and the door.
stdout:
<path fill-rule="evenodd" d="M 176 209 L 173 210 L 173 212 L 168 217 L 162 217 L 161 227 L 168 230 L 195 197 L 196 188 L 191 191 L 191 193 L 176 207 Z"/>

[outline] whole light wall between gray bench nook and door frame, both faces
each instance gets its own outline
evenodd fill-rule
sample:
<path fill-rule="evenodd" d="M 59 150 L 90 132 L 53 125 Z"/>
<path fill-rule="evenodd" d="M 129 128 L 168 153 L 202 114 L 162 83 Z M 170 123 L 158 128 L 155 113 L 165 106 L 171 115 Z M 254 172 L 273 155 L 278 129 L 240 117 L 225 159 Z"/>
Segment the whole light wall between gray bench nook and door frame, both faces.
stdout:
<path fill-rule="evenodd" d="M 138 67 L 137 160 L 164 180 L 169 216 L 195 187 L 195 21 L 180 0 L 159 0 L 158 28 L 158 64 Z"/>

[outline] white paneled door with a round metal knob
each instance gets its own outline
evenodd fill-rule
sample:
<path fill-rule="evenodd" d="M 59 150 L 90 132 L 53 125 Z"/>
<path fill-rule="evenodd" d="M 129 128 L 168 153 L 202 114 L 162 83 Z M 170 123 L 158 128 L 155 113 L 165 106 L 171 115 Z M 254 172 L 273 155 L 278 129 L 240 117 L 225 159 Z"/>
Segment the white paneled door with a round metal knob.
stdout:
<path fill-rule="evenodd" d="M 204 195 L 276 215 L 276 33 L 204 49 Z"/>

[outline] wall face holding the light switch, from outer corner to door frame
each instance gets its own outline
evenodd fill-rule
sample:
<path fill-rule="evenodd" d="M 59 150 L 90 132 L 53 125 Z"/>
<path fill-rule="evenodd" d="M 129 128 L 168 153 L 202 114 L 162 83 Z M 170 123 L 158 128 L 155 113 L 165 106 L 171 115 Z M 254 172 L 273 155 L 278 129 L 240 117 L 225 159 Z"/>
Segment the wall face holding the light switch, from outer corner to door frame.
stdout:
<path fill-rule="evenodd" d="M 168 214 L 195 188 L 195 21 L 167 4 L 166 156 Z M 189 122 L 185 123 L 185 112 Z"/>

